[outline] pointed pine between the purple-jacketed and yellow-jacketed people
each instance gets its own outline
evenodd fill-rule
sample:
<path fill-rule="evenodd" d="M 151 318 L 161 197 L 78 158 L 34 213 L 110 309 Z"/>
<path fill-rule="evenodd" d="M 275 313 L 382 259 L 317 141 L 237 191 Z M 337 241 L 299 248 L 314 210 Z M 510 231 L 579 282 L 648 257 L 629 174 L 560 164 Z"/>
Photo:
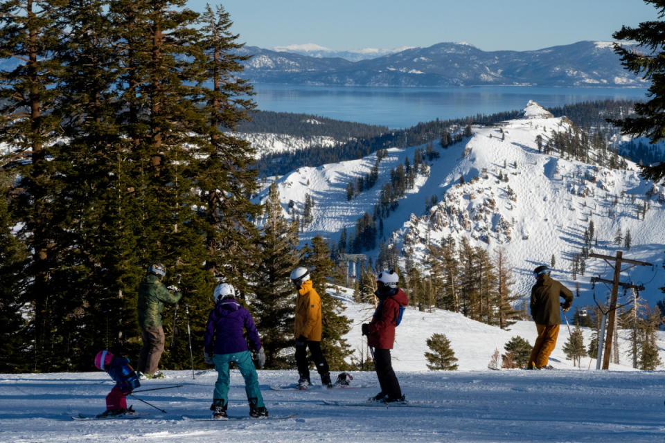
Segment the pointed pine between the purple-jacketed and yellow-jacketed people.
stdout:
<path fill-rule="evenodd" d="M 275 183 L 268 191 L 261 233 L 262 257 L 252 279 L 256 287 L 250 305 L 265 348 L 266 368 L 283 369 L 293 356 L 295 296 L 290 273 L 299 264 L 299 253 L 297 226 L 283 218 Z"/>

